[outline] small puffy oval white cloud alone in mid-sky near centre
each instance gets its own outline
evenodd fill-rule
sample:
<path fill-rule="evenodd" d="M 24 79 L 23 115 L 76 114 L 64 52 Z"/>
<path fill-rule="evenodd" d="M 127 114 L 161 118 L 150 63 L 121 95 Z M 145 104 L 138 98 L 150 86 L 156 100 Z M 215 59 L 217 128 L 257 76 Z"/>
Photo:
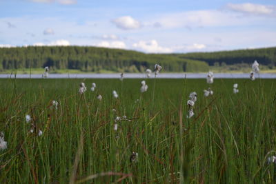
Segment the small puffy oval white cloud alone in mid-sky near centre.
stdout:
<path fill-rule="evenodd" d="M 139 21 L 133 19 L 130 16 L 119 17 L 117 19 L 112 20 L 112 23 L 115 23 L 117 28 L 120 28 L 123 30 L 132 30 L 132 29 L 141 28 L 141 23 L 139 23 Z"/>

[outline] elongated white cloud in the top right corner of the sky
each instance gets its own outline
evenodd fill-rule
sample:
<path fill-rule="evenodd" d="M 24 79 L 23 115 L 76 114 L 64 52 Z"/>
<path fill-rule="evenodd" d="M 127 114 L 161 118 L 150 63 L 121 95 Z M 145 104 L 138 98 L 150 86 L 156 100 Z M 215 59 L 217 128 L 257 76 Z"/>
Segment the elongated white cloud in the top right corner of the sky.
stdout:
<path fill-rule="evenodd" d="M 265 6 L 261 4 L 254 3 L 241 3 L 233 4 L 228 3 L 226 8 L 229 10 L 234 10 L 236 12 L 248 13 L 248 14 L 272 14 L 273 6 Z"/>

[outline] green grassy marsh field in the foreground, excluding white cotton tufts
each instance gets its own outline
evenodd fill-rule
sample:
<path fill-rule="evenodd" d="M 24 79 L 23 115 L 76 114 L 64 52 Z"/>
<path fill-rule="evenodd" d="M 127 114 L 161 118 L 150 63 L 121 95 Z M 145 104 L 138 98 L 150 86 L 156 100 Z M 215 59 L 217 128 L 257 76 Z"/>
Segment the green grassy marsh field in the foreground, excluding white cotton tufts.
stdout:
<path fill-rule="evenodd" d="M 1 79 L 0 183 L 275 183 L 275 79 L 146 83 L 141 93 L 141 79 Z"/>

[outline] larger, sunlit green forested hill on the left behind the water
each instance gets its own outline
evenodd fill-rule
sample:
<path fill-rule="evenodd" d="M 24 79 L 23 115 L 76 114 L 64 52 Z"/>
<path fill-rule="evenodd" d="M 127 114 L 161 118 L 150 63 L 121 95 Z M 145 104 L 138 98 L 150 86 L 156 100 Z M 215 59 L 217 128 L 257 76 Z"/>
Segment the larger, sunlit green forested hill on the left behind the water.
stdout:
<path fill-rule="evenodd" d="M 184 59 L 168 54 L 144 54 L 132 50 L 82 46 L 28 46 L 0 48 L 0 70 L 20 68 L 77 69 L 99 72 L 144 72 L 155 63 L 166 72 L 207 71 L 208 64 L 197 59 Z"/>

